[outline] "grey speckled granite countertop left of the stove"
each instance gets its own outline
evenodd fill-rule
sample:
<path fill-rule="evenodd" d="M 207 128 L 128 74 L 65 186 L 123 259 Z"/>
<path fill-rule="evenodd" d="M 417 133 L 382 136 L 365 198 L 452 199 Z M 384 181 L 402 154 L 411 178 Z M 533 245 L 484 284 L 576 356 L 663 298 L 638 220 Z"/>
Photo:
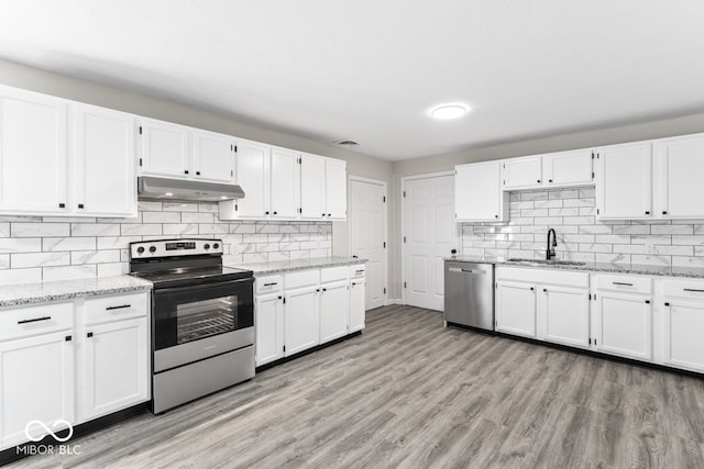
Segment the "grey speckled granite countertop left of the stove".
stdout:
<path fill-rule="evenodd" d="M 56 280 L 0 287 L 0 306 L 46 303 L 74 298 L 127 293 L 150 290 L 152 282 L 132 276 L 99 277 L 79 280 Z"/>

